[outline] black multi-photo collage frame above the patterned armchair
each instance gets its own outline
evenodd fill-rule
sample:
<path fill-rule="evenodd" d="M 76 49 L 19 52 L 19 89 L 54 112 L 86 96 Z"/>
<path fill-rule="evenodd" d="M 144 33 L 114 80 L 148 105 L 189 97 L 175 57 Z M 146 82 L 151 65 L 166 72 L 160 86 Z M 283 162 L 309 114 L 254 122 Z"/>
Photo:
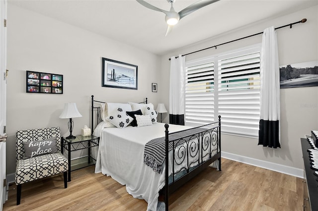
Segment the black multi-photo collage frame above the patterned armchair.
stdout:
<path fill-rule="evenodd" d="M 26 92 L 63 94 L 63 75 L 26 70 Z"/>

